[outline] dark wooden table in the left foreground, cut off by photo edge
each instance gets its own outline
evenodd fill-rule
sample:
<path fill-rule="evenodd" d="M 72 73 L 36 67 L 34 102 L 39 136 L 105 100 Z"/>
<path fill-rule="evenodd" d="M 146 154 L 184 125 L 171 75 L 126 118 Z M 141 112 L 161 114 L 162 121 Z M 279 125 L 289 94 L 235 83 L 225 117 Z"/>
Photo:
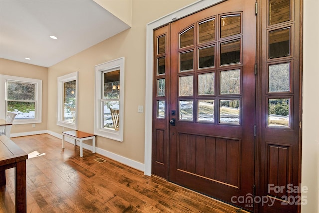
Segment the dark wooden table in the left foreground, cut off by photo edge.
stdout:
<path fill-rule="evenodd" d="M 18 145 L 5 135 L 0 136 L 0 186 L 6 184 L 5 170 L 15 168 L 15 212 L 26 213 L 26 159 Z"/>

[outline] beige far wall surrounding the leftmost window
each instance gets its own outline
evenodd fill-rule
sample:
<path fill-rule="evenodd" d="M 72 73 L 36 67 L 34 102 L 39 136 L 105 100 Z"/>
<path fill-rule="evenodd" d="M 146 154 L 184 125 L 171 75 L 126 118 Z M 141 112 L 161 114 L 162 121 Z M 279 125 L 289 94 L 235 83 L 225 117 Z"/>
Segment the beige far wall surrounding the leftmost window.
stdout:
<path fill-rule="evenodd" d="M 42 80 L 42 123 L 13 125 L 11 133 L 47 130 L 48 68 L 0 58 L 0 74 Z"/>

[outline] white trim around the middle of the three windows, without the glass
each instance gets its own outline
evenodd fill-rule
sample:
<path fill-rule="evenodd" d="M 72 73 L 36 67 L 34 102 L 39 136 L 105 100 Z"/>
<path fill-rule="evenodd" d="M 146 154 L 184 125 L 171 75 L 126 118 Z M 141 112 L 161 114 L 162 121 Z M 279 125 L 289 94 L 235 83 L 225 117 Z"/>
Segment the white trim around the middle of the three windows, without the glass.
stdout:
<path fill-rule="evenodd" d="M 57 100 L 57 121 L 56 125 L 67 127 L 69 129 L 78 129 L 78 93 L 79 93 L 79 72 L 72 72 L 67 75 L 58 77 L 58 100 Z M 63 97 L 64 97 L 64 83 L 75 80 L 75 123 L 65 122 L 63 120 Z"/>

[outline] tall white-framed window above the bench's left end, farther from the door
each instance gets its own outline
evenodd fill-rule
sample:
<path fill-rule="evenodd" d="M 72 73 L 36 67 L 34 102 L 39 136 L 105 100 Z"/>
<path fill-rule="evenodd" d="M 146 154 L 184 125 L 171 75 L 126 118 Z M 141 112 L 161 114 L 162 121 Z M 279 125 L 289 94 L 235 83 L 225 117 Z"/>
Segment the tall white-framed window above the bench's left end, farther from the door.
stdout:
<path fill-rule="evenodd" d="M 78 72 L 58 77 L 57 125 L 78 129 Z"/>

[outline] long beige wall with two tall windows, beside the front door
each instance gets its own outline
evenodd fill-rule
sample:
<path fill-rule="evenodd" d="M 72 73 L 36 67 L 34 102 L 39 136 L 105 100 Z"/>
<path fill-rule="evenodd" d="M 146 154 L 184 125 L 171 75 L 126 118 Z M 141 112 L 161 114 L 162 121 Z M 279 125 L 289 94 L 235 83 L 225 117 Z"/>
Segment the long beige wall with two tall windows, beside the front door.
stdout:
<path fill-rule="evenodd" d="M 145 115 L 137 110 L 138 105 L 145 105 L 146 24 L 192 2 L 194 0 L 133 0 L 132 28 L 49 67 L 48 130 L 56 133 L 64 130 L 56 125 L 57 77 L 79 71 L 78 129 L 93 133 L 94 66 L 125 57 L 124 140 L 97 137 L 96 145 L 144 163 Z"/>

